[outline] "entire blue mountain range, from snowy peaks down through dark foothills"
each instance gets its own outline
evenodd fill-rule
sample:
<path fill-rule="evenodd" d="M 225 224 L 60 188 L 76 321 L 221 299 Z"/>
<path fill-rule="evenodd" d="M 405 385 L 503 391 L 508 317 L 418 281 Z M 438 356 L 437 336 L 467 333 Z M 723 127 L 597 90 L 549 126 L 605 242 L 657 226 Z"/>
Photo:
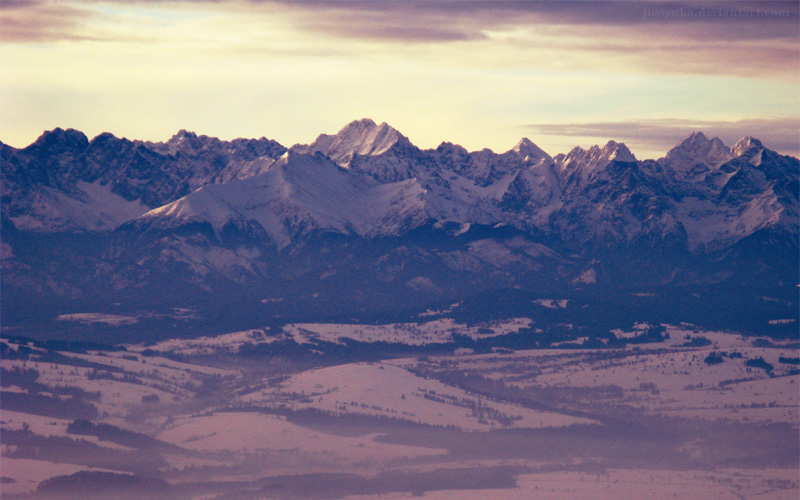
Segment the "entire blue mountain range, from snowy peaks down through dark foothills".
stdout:
<path fill-rule="evenodd" d="M 23 330 L 88 308 L 255 326 L 554 295 L 753 332 L 797 317 L 800 162 L 752 137 L 551 157 L 421 150 L 364 119 L 291 148 L 56 129 L 0 161 L 4 326 Z"/>

